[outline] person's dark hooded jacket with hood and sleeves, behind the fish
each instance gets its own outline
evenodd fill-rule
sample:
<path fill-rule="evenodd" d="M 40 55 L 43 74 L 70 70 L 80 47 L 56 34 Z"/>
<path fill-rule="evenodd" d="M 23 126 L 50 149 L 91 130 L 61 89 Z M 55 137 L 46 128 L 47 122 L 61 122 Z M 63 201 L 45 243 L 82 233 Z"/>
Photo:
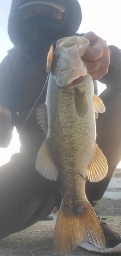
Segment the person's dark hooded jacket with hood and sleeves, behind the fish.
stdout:
<path fill-rule="evenodd" d="M 0 64 L 0 104 L 12 112 L 12 123 L 20 135 L 21 152 L 36 154 L 45 135 L 40 125 L 37 124 L 35 113 L 38 105 L 45 103 L 47 85 L 23 128 L 22 126 L 43 89 L 47 74 L 45 71 L 46 56 L 43 59 L 29 59 L 25 54 L 23 55 L 19 41 L 18 31 L 21 17 L 18 8 L 29 1 L 13 0 L 12 2 L 8 32 L 15 47 L 8 51 L 8 56 Z M 79 3 L 77 0 L 58 0 L 58 2 L 64 5 L 71 3 L 68 9 L 72 16 L 69 16 L 71 19 L 69 18 L 66 29 L 69 32 L 68 35 L 75 34 L 82 19 Z M 110 49 L 113 61 L 102 82 L 109 87 L 118 87 L 121 79 L 121 53 L 114 46 Z"/>

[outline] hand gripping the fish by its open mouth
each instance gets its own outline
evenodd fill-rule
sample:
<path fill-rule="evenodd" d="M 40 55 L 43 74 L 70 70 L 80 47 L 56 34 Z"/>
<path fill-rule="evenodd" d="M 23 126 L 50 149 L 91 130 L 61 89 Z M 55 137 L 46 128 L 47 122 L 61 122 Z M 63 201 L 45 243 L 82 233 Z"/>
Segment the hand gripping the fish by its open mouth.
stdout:
<path fill-rule="evenodd" d="M 100 80 L 108 71 L 111 51 L 105 41 L 95 33 L 88 32 L 83 36 L 90 41 L 91 47 L 86 50 L 82 59 L 92 78 L 94 80 Z"/>

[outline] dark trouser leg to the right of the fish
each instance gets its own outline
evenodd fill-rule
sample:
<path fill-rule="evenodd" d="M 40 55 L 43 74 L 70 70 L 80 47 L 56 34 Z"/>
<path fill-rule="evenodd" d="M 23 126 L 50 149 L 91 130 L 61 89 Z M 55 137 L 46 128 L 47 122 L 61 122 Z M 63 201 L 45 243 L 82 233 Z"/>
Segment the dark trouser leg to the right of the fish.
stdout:
<path fill-rule="evenodd" d="M 100 94 L 106 111 L 96 120 L 96 143 L 108 163 L 107 176 L 96 183 L 86 182 L 86 195 L 90 202 L 102 198 L 112 174 L 121 161 L 121 88 L 106 89 Z"/>

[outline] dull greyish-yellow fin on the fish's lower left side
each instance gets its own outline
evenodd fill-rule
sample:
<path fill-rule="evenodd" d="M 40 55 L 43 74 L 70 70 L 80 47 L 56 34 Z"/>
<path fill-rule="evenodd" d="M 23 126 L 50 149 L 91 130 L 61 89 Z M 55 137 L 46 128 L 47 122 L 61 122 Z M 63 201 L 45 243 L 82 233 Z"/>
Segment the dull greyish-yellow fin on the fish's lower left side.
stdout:
<path fill-rule="evenodd" d="M 58 169 L 49 153 L 46 138 L 37 154 L 35 168 L 42 176 L 50 180 L 56 180 L 58 177 Z"/>

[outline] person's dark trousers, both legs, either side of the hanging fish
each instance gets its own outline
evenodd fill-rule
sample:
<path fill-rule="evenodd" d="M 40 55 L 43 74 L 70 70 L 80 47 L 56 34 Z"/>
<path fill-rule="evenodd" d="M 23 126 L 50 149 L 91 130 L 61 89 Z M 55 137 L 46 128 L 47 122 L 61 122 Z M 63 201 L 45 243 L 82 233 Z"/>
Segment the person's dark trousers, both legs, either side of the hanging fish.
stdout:
<path fill-rule="evenodd" d="M 98 147 L 108 162 L 108 174 L 100 182 L 86 182 L 90 202 L 99 200 L 121 160 L 121 90 L 106 89 L 102 98 L 106 112 L 96 121 Z M 60 180 L 50 181 L 35 170 L 36 156 L 15 154 L 0 167 L 0 239 L 23 230 L 49 215 L 61 204 Z"/>

